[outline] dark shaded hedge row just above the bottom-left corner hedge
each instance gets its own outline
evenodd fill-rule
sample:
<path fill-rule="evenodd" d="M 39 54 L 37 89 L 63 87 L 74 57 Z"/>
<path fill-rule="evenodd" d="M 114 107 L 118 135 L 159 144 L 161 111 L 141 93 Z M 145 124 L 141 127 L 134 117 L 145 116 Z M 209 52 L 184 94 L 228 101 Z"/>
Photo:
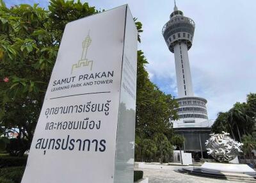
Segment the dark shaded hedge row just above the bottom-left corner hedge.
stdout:
<path fill-rule="evenodd" d="M 26 166 L 28 156 L 12 157 L 7 155 L 0 156 L 0 168 L 9 166 Z"/>

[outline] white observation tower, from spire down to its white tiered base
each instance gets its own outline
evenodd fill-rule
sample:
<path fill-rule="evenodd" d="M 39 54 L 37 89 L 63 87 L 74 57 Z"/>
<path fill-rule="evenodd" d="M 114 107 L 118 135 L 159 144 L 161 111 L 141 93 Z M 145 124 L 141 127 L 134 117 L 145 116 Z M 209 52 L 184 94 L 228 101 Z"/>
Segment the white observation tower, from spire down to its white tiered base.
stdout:
<path fill-rule="evenodd" d="M 173 127 L 208 127 L 209 120 L 205 104 L 207 100 L 194 97 L 188 51 L 192 46 L 195 22 L 183 16 L 176 4 L 170 20 L 163 27 L 163 36 L 168 48 L 174 53 L 177 77 L 179 120 Z M 210 122 L 211 123 L 211 122 Z"/>

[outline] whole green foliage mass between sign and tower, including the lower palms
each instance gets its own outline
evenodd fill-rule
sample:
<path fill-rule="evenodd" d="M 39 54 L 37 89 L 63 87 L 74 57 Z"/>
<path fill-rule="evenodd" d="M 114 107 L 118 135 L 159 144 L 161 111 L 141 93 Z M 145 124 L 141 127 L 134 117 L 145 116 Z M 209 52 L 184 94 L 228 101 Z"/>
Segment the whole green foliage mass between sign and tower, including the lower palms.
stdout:
<path fill-rule="evenodd" d="M 136 93 L 136 145 L 137 161 L 168 161 L 173 147 L 170 119 L 177 119 L 177 101 L 161 92 L 148 78 L 147 59 L 138 51 Z M 162 140 L 162 141 L 161 141 Z"/>

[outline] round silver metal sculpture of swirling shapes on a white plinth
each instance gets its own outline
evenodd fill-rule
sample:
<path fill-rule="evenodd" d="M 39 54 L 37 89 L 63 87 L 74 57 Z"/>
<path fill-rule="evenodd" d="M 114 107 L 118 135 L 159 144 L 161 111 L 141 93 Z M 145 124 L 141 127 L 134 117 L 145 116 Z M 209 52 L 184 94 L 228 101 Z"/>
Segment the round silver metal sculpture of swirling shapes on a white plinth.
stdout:
<path fill-rule="evenodd" d="M 234 139 L 228 136 L 229 133 L 223 132 L 222 134 L 210 134 L 209 138 L 205 142 L 207 154 L 211 155 L 218 161 L 232 161 L 236 158 L 241 150 L 243 143 L 234 141 Z"/>

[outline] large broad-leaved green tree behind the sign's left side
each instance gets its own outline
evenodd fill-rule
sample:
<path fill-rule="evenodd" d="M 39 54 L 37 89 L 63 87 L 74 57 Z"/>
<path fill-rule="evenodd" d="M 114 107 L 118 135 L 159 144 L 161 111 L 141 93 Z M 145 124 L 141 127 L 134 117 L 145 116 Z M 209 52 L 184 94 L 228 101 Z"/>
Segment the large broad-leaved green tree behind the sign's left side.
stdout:
<path fill-rule="evenodd" d="M 97 10 L 80 1 L 0 4 L 0 125 L 31 143 L 65 24 Z"/>

